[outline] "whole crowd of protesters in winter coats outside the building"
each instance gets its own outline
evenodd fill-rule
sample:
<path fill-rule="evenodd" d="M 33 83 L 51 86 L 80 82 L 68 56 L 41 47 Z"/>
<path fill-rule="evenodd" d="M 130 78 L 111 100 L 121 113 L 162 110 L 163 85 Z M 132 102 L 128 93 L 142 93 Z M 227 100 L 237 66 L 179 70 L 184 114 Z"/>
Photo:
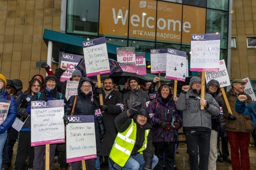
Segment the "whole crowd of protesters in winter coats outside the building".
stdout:
<path fill-rule="evenodd" d="M 249 143 L 253 131 L 255 140 L 256 102 L 244 93 L 246 82 L 241 79 L 234 79 L 231 90 L 226 93 L 232 110 L 229 113 L 217 80 L 206 84 L 203 100 L 200 76 L 192 77 L 174 97 L 173 83 L 162 83 L 156 88 L 159 77 L 141 85 L 137 77 L 130 77 L 121 90 L 111 77 L 104 79 L 103 87 L 98 88 L 90 78 L 82 77 L 82 73 L 75 70 L 70 80 L 79 82 L 78 95 L 67 101 L 67 81 L 60 81 L 67 68 L 61 66 L 54 73 L 47 64 L 42 67 L 48 76 L 34 75 L 24 92 L 20 80 L 7 80 L 0 74 L 0 102 L 10 102 L 7 117 L 0 124 L 2 170 L 45 169 L 45 145 L 32 147 L 30 144 L 30 102 L 59 99 L 64 100 L 65 115 L 95 117 L 97 159 L 85 161 L 87 170 L 100 170 L 102 166 L 109 170 L 175 170 L 181 127 L 186 136 L 191 170 L 216 170 L 216 161 L 231 163 L 233 170 L 250 170 Z M 99 104 L 100 95 L 103 105 Z M 200 106 L 204 106 L 204 110 L 200 110 Z M 19 132 L 11 127 L 16 117 L 24 121 Z M 65 117 L 63 121 L 69 123 Z M 56 156 L 59 169 L 66 170 L 65 143 L 50 144 L 50 170 Z M 71 163 L 72 170 L 80 170 L 80 163 Z"/>

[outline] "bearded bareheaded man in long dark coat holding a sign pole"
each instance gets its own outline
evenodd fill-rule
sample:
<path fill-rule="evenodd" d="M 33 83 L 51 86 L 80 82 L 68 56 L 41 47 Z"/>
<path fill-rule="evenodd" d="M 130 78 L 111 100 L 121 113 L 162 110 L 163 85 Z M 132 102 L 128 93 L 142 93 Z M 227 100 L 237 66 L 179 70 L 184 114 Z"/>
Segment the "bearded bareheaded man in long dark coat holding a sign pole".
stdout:
<path fill-rule="evenodd" d="M 104 141 L 100 144 L 100 153 L 99 156 L 105 156 L 105 163 L 108 162 L 108 156 L 112 145 L 115 141 L 115 137 L 117 135 L 117 130 L 115 129 L 115 117 L 119 115 L 119 113 L 124 111 L 122 93 L 114 90 L 114 83 L 112 78 L 106 78 L 103 82 L 103 89 L 96 89 L 96 97 L 98 94 L 103 95 L 103 106 L 100 106 L 100 110 L 105 112 L 102 114 L 103 122 L 106 129 Z M 97 170 L 100 169 L 99 159 L 96 160 Z M 114 168 L 109 163 L 109 169 L 114 170 Z"/>

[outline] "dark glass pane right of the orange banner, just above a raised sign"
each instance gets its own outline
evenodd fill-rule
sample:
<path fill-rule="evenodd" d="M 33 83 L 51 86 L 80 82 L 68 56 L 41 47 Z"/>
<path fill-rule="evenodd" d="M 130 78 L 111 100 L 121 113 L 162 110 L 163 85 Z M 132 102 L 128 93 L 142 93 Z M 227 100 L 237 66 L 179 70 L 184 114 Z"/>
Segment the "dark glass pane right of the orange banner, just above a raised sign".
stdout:
<path fill-rule="evenodd" d="M 206 33 L 221 33 L 221 48 L 227 48 L 228 12 L 207 9 Z"/>

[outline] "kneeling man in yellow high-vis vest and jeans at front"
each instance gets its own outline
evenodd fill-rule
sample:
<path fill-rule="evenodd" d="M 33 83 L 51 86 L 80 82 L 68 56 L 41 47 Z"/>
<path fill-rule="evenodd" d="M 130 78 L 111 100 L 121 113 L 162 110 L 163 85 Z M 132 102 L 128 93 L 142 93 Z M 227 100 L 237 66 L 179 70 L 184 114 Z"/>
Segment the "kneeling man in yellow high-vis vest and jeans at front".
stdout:
<path fill-rule="evenodd" d="M 118 134 L 109 158 L 117 170 L 152 170 L 158 163 L 158 157 L 153 154 L 148 119 L 140 102 L 134 102 L 129 110 L 116 117 Z"/>

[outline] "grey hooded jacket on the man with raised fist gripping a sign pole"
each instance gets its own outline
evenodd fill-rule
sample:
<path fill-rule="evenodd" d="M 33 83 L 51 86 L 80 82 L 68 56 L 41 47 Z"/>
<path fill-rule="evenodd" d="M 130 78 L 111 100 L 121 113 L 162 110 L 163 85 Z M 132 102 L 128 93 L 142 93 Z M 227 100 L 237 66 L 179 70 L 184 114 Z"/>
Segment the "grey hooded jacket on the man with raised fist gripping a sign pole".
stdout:
<path fill-rule="evenodd" d="M 204 99 L 208 103 L 208 107 L 200 110 L 201 92 L 193 90 L 193 82 L 201 81 L 200 77 L 194 76 L 189 82 L 190 89 L 180 93 L 180 97 L 176 102 L 176 108 L 183 111 L 183 129 L 184 130 L 211 130 L 211 115 L 219 115 L 219 104 L 208 93 L 204 93 Z"/>

